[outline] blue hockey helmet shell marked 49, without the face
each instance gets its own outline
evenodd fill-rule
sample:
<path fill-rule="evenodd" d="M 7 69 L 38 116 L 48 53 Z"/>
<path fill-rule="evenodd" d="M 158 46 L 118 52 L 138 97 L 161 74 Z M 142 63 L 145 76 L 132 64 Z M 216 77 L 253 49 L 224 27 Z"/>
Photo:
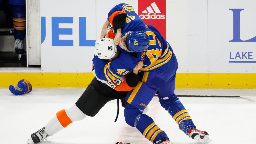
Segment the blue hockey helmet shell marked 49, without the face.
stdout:
<path fill-rule="evenodd" d="M 134 31 L 127 38 L 127 45 L 132 52 L 142 52 L 149 47 L 149 36 L 141 31 Z"/>

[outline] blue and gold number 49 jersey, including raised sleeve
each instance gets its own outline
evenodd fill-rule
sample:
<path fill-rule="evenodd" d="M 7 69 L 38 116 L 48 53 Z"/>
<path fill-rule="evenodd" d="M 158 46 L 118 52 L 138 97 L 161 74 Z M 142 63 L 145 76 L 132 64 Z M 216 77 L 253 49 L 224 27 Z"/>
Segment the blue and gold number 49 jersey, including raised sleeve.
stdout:
<path fill-rule="evenodd" d="M 161 36 L 159 31 L 152 25 L 145 25 L 144 22 L 135 13 L 132 6 L 128 4 L 119 4 L 110 10 L 108 20 L 112 24 L 113 19 L 120 13 L 126 13 L 125 25 L 122 33 L 128 31 L 143 31 L 149 36 L 149 48 L 143 52 L 132 56 L 131 53 L 122 51 L 120 56 L 111 62 L 106 62 L 94 56 L 93 63 L 95 74 L 99 79 L 113 81 L 123 76 L 137 65 L 137 62 L 143 61 L 144 66 L 140 71 L 155 71 L 165 69 L 172 55 L 173 50 L 168 42 Z M 119 46 L 117 46 L 122 50 Z"/>

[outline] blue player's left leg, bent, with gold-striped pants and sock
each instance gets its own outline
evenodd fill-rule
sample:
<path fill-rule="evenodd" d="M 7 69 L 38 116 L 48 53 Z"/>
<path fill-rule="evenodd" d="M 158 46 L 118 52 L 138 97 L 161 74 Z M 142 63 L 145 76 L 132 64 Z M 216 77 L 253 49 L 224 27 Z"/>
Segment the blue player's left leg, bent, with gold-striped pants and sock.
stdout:
<path fill-rule="evenodd" d="M 128 104 L 124 109 L 124 117 L 128 125 L 136 127 L 149 141 L 156 143 L 156 141 L 163 140 L 167 143 L 169 138 L 166 133 L 155 124 L 151 117 L 142 113 L 156 91 L 140 81 L 135 89 L 127 94 Z"/>

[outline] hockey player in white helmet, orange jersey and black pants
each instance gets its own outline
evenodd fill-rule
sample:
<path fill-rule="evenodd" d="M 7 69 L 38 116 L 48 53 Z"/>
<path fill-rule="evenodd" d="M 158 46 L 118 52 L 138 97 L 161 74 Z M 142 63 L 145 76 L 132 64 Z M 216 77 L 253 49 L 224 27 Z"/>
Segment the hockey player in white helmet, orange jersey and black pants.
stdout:
<path fill-rule="evenodd" d="M 101 59 L 112 60 L 118 57 L 118 53 L 113 39 L 103 38 L 97 40 L 95 43 L 95 55 Z M 142 66 L 143 62 L 138 62 L 138 65 L 133 69 L 133 72 L 112 82 L 99 81 L 97 80 L 97 77 L 95 77 L 78 101 L 70 108 L 57 112 L 43 128 L 31 134 L 31 139 L 28 140 L 28 144 L 37 144 L 43 140 L 47 141 L 47 137 L 53 136 L 67 127 L 70 123 L 82 120 L 86 116 L 95 116 L 110 100 L 117 99 L 119 104 L 118 99 L 121 99 L 122 101 L 126 96 L 127 91 L 132 90 L 139 82 L 139 76 L 137 74 Z M 92 69 L 94 71 L 94 65 Z M 125 107 L 125 101 L 122 101 L 122 106 Z"/>

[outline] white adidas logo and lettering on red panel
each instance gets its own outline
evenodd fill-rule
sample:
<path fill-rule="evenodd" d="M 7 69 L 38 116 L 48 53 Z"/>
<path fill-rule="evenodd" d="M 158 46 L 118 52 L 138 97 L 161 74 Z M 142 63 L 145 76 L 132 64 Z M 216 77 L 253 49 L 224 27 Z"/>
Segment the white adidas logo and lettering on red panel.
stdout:
<path fill-rule="evenodd" d="M 165 19 L 165 15 L 161 15 L 155 2 L 151 3 L 142 13 L 139 15 L 141 19 Z"/>

